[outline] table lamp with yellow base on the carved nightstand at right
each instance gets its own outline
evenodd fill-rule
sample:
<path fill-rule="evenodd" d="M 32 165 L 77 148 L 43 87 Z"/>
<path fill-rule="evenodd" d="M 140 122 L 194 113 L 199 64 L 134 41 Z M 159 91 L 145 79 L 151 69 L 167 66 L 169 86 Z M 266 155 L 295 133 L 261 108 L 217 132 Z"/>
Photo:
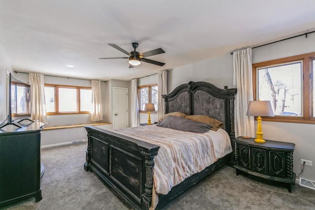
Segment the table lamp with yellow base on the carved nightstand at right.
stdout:
<path fill-rule="evenodd" d="M 254 141 L 257 143 L 265 143 L 265 140 L 262 138 L 261 117 L 274 117 L 270 101 L 250 101 L 246 115 L 258 116 L 256 139 Z"/>

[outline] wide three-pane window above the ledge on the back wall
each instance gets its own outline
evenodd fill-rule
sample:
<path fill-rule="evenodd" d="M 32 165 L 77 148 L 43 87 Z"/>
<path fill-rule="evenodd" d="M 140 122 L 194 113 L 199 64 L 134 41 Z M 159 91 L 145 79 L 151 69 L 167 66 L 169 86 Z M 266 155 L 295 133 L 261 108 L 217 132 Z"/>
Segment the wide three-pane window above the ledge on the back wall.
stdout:
<path fill-rule="evenodd" d="M 47 115 L 87 114 L 92 109 L 92 89 L 45 84 L 45 102 Z"/>

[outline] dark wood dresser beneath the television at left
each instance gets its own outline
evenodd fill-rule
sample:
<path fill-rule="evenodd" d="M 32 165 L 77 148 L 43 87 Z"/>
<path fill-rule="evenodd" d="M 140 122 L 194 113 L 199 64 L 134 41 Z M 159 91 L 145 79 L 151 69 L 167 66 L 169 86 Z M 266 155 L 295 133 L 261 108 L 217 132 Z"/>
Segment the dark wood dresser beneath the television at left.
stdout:
<path fill-rule="evenodd" d="M 22 199 L 42 199 L 40 131 L 42 122 L 21 122 L 0 129 L 0 207 Z"/>

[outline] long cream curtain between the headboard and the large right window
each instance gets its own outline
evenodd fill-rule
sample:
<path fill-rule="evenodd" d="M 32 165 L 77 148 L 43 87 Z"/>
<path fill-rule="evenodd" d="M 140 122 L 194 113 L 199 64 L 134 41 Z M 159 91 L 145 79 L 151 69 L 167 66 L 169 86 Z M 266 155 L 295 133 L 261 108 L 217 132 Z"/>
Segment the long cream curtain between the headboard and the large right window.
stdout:
<path fill-rule="evenodd" d="M 252 48 L 233 53 L 233 86 L 237 88 L 235 97 L 235 136 L 255 137 L 254 119 L 246 116 L 252 96 Z"/>

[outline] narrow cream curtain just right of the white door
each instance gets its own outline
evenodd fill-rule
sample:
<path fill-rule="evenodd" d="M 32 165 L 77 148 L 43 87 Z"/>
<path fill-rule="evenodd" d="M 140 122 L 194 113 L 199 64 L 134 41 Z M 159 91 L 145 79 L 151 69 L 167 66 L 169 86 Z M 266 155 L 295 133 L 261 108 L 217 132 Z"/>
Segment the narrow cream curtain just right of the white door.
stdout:
<path fill-rule="evenodd" d="M 131 127 L 139 126 L 138 79 L 131 80 Z"/>

